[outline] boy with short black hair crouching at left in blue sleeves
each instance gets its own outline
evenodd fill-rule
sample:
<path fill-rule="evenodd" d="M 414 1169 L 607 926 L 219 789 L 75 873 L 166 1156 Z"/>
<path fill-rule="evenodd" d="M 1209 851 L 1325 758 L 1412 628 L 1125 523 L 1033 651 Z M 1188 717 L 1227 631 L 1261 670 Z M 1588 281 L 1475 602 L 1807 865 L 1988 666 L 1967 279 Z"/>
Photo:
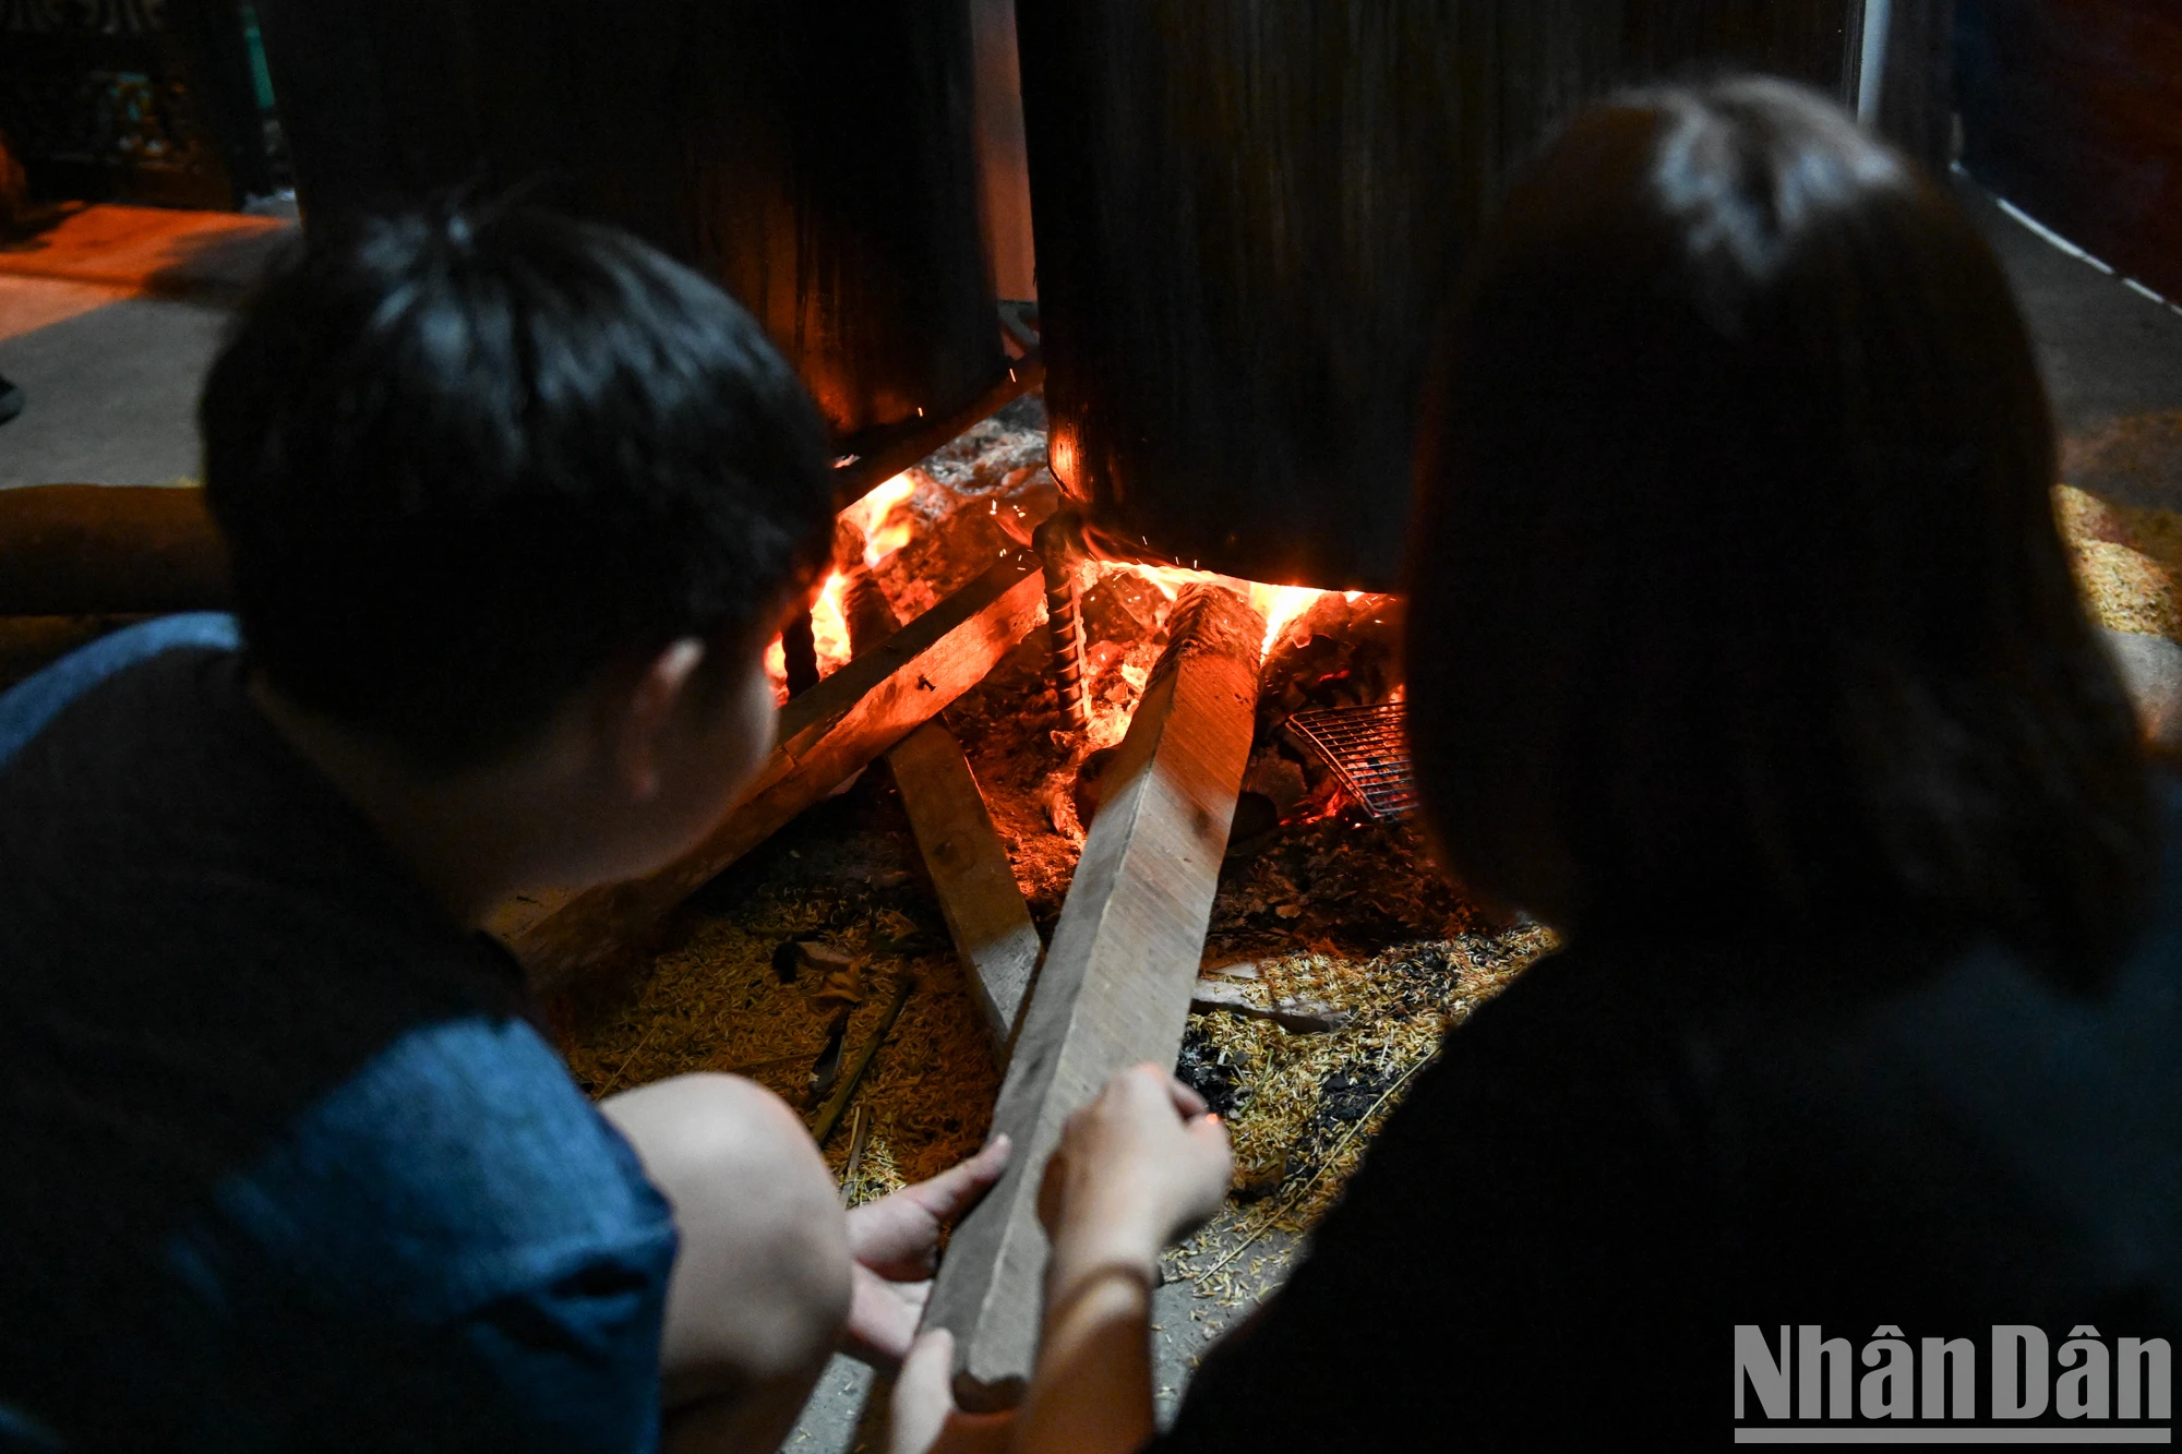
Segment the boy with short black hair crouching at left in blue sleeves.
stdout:
<path fill-rule="evenodd" d="M 240 651 L 0 710 L 0 1447 L 775 1447 L 1006 1144 L 844 1216 L 748 1081 L 591 1107 L 478 930 L 764 760 L 810 397 L 633 238 L 449 203 L 316 238 L 201 426 Z"/>

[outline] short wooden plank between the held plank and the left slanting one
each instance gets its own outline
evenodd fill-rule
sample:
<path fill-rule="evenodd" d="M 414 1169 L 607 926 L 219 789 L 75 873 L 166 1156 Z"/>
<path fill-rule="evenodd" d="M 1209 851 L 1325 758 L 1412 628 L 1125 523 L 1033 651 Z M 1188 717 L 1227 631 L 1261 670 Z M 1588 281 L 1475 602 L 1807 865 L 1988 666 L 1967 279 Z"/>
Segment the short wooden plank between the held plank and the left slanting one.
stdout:
<path fill-rule="evenodd" d="M 1039 972 L 1039 930 L 1015 882 L 1008 849 L 993 827 L 984 792 L 962 744 L 940 723 L 925 723 L 886 755 L 910 810 L 916 847 L 932 871 L 947 932 L 971 972 L 993 1054 L 1008 1065 L 1030 982 Z"/>

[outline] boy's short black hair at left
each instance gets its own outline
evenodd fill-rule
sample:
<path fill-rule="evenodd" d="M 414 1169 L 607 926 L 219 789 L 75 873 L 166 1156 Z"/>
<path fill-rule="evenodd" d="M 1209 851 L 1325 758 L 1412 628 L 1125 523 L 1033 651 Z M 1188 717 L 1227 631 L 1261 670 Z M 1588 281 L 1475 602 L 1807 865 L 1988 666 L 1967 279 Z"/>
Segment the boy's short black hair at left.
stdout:
<path fill-rule="evenodd" d="M 253 666 L 428 766 L 513 751 L 618 655 L 751 646 L 829 548 L 825 426 L 751 317 L 535 207 L 314 236 L 199 421 Z"/>

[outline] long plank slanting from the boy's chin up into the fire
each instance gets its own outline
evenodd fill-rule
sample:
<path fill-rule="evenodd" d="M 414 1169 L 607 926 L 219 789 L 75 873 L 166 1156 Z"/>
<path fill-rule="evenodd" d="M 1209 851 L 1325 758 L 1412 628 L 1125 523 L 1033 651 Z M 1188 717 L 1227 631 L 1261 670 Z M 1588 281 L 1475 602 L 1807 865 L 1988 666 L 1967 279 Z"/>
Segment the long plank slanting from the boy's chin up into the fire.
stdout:
<path fill-rule="evenodd" d="M 615 945 L 639 941 L 705 880 L 984 681 L 1036 622 L 1043 592 L 1036 557 L 1002 557 L 882 646 L 792 696 L 781 707 L 779 738 L 757 782 L 696 849 L 639 880 L 519 895 L 489 928 L 537 985 L 563 980 Z"/>

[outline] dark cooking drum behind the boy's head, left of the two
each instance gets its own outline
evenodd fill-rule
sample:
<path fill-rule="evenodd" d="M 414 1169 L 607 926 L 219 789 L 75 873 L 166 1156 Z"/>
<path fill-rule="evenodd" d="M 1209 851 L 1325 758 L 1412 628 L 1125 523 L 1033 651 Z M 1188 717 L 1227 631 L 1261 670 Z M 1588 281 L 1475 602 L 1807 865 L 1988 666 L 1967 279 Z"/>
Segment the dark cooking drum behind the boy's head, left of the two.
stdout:
<path fill-rule="evenodd" d="M 842 437 L 1002 373 L 967 0 L 260 0 L 305 218 L 439 188 L 718 279 Z"/>

